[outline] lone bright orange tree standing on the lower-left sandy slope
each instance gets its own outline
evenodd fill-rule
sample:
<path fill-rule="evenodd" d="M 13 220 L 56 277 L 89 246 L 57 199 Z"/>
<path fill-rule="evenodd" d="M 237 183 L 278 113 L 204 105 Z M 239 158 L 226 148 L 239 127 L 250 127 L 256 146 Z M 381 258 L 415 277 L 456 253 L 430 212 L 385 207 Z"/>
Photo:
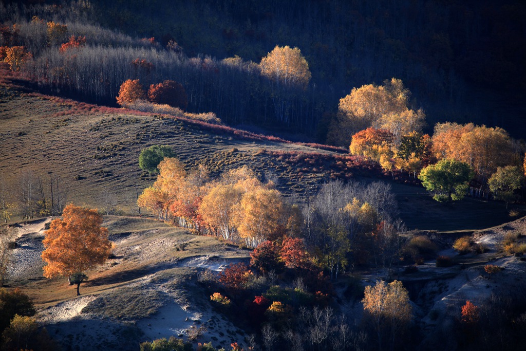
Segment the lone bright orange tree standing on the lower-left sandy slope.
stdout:
<path fill-rule="evenodd" d="M 44 276 L 68 277 L 70 284 L 75 282 L 80 295 L 83 273 L 104 263 L 111 252 L 112 243 L 108 240 L 108 229 L 101 226 L 102 220 L 95 209 L 67 205 L 62 219 L 52 220 L 45 232 Z"/>

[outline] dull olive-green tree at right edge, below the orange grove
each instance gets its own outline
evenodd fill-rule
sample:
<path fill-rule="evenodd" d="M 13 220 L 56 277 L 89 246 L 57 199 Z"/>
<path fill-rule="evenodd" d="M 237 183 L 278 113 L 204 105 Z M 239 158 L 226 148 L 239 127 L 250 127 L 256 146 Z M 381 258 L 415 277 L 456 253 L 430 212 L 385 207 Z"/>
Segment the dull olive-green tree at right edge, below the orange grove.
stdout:
<path fill-rule="evenodd" d="M 496 199 L 508 204 L 515 199 L 514 191 L 519 189 L 523 180 L 522 171 L 517 166 L 498 167 L 497 172 L 488 179 L 488 185 Z"/>

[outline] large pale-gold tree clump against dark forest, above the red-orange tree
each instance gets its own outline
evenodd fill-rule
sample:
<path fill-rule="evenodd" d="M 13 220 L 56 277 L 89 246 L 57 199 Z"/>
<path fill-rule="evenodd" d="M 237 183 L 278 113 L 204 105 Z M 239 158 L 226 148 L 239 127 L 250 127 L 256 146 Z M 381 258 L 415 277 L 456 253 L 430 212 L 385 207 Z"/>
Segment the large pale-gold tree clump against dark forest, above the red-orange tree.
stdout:
<path fill-rule="evenodd" d="M 353 88 L 340 99 L 337 118 L 329 126 L 328 141 L 345 145 L 351 135 L 373 127 L 390 131 L 398 145 L 402 135 L 420 132 L 426 117 L 421 109 L 409 108 L 409 97 L 409 90 L 396 78 L 379 86 Z"/>

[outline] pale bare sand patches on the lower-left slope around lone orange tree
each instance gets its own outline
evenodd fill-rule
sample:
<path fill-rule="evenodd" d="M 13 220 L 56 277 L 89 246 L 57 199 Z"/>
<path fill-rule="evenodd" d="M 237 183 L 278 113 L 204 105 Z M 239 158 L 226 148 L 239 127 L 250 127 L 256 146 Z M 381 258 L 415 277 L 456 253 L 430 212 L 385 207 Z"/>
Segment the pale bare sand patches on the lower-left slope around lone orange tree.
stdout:
<path fill-rule="evenodd" d="M 42 240 L 45 223 L 50 220 L 22 224 L 17 228 L 18 246 L 12 252 L 11 259 L 14 264 L 9 269 L 10 279 L 23 280 L 42 277 L 44 265 L 41 258 Z M 119 246 L 126 246 L 127 242 L 133 242 L 134 239 L 137 239 L 137 234 L 131 234 L 115 241 Z M 117 255 L 124 255 L 129 262 L 150 261 L 177 244 L 179 243 L 175 239 L 159 238 L 140 245 L 126 246 L 123 252 L 117 252 Z M 122 260 L 114 261 L 120 263 Z M 204 255 L 181 259 L 174 262 L 171 267 L 208 268 L 218 272 L 228 267 L 229 264 L 237 262 L 239 259 L 223 259 Z M 108 264 L 104 265 L 104 268 L 108 267 Z M 158 283 L 155 279 L 156 275 L 157 273 L 148 274 L 128 284 L 130 287 L 157 290 L 167 297 L 158 312 L 148 318 L 121 323 L 118 320 L 83 312 L 84 307 L 99 298 L 97 295 L 76 296 L 60 302 L 55 306 L 40 310 L 36 318 L 39 323 L 46 326 L 49 334 L 61 340 L 66 348 L 71 346 L 84 351 L 101 348 L 125 350 L 133 345 L 137 347 L 136 344 L 129 344 L 129 340 L 125 340 L 123 336 L 127 335 L 126 333 L 135 333 L 133 336 L 137 337 L 135 327 L 144 333 L 140 336 L 141 341 L 170 336 L 186 337 L 186 330 L 190 326 L 204 325 L 207 331 L 196 340 L 196 343 L 212 342 L 215 347 L 225 348 L 228 348 L 232 342 L 242 343 L 244 337 L 241 335 L 241 330 L 232 325 L 224 316 L 214 312 L 210 305 L 197 308 L 179 304 L 176 301 L 174 289 L 165 283 Z M 74 294 L 73 291 L 74 289 L 72 289 L 72 294 Z"/>

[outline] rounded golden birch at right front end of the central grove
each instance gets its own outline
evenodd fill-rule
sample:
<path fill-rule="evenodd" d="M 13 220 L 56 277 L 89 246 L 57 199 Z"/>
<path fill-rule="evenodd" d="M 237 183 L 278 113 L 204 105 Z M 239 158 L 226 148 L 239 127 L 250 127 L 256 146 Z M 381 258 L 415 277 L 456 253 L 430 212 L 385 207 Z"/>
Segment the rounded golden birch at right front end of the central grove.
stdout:
<path fill-rule="evenodd" d="M 243 195 L 235 220 L 248 247 L 256 247 L 277 230 L 283 210 L 278 190 L 258 187 Z"/>

